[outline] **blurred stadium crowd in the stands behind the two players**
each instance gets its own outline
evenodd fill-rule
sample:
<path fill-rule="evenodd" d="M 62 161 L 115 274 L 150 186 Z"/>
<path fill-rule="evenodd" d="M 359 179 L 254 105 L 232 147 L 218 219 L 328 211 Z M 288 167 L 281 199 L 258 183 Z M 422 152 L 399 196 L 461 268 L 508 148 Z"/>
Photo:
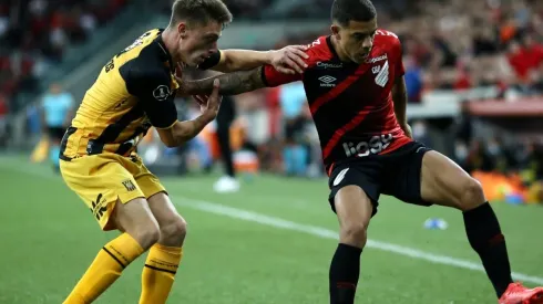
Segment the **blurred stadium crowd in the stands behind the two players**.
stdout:
<path fill-rule="evenodd" d="M 21 4 L 23 2 L 23 4 Z M 126 6 L 125 0 L 0 2 L 0 138 L 6 117 L 23 108 L 20 92 L 39 91 L 51 64 L 70 45 L 82 43 Z M 328 19 L 330 0 L 230 0 L 235 19 Z M 379 25 L 400 36 L 409 102 L 422 103 L 436 91 L 496 87 L 503 102 L 543 96 L 543 1 L 391 0 L 375 1 Z M 167 13 L 170 2 L 155 6 Z M 235 21 L 236 22 L 236 21 Z M 309 43 L 326 29 L 285 36 L 276 48 Z M 203 76 L 198 74 L 198 76 Z M 541 97 L 543 98 L 543 97 Z M 288 175 L 321 174 L 318 137 L 305 105 L 303 86 L 285 85 L 235 97 L 238 119 L 234 146 L 258 155 L 259 168 Z M 195 111 L 186 103 L 184 115 Z M 473 117 L 463 113 L 448 134 L 448 153 L 470 171 L 519 174 L 522 182 L 543 179 L 543 149 L 531 140 L 481 140 Z M 414 120 L 417 139 L 431 145 L 429 123 Z M 248 127 L 250 126 L 250 127 Z M 209 127 L 213 132 L 213 126 Z M 3 135 L 2 135 L 3 134 Z M 205 135 L 203 135 L 205 137 Z M 0 140 L 2 141 L 2 140 Z M 205 141 L 205 140 L 204 140 Z M 213 147 L 209 155 L 213 157 Z M 202 155 L 195 153 L 194 155 Z M 304 164 L 300 166 L 299 164 Z M 522 174 L 521 174 L 522 172 Z"/>

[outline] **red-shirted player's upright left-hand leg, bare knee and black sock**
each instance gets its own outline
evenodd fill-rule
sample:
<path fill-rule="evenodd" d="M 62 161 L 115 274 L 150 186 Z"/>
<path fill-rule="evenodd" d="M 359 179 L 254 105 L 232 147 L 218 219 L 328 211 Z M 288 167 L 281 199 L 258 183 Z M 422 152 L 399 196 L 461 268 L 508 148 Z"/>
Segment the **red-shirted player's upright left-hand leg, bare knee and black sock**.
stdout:
<path fill-rule="evenodd" d="M 349 304 L 355 303 L 360 254 L 373 206 L 360 187 L 346 186 L 337 192 L 335 207 L 340 233 L 329 273 L 330 304 Z"/>

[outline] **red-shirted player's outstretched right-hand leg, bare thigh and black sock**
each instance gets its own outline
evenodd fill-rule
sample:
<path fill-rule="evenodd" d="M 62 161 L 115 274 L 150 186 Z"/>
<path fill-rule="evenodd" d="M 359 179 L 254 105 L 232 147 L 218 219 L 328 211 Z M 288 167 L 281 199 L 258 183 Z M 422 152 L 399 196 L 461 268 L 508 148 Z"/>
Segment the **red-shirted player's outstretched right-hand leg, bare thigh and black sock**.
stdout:
<path fill-rule="evenodd" d="M 500 297 L 512 283 L 511 266 L 498 218 L 479 181 L 445 156 L 428 151 L 422 158 L 421 197 L 463 212 L 468 240 Z"/>

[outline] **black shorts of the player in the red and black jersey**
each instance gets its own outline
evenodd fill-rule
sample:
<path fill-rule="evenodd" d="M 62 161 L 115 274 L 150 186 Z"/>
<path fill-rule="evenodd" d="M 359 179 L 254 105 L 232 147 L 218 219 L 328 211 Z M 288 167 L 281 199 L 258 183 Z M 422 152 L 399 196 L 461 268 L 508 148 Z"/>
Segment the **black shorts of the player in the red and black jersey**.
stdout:
<path fill-rule="evenodd" d="M 350 185 L 362 188 L 373 203 L 373 216 L 381 193 L 408 203 L 431 206 L 420 195 L 422 157 L 429 150 L 421 143 L 411 141 L 389 154 L 336 163 L 328 181 L 331 209 L 336 212 L 334 199 L 339 189 Z"/>

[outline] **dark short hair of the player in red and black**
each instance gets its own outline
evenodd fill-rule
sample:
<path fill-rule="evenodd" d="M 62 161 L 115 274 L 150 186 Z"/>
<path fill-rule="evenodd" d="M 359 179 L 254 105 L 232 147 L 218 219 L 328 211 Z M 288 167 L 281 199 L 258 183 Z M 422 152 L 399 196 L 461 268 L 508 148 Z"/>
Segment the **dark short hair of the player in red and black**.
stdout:
<path fill-rule="evenodd" d="M 370 0 L 334 0 L 331 4 L 331 20 L 340 25 L 348 25 L 350 21 L 371 21 L 376 17 L 377 10 Z"/>

